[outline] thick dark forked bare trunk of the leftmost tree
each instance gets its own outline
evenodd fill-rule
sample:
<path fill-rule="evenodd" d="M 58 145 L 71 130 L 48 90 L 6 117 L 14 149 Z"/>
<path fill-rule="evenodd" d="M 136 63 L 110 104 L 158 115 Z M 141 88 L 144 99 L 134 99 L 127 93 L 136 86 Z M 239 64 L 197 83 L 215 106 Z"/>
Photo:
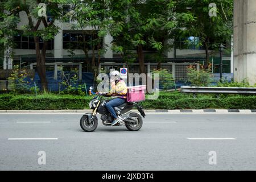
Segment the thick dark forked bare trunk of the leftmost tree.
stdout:
<path fill-rule="evenodd" d="M 44 42 L 42 52 L 39 47 L 39 37 L 34 37 L 35 49 L 36 49 L 36 71 L 38 72 L 41 86 L 44 91 L 48 91 L 48 85 L 46 80 L 46 47 L 47 42 Z"/>

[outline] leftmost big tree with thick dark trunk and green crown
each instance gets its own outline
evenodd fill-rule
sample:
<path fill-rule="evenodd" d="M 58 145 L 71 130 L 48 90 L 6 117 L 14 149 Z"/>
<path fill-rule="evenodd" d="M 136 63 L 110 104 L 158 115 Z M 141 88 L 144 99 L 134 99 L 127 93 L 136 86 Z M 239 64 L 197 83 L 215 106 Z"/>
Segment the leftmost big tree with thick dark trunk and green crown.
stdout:
<path fill-rule="evenodd" d="M 5 10 L 7 16 L 18 16 L 20 12 L 26 13 L 28 23 L 23 28 L 23 35 L 33 36 L 36 51 L 36 71 L 40 77 L 41 85 L 44 90 L 47 89 L 46 80 L 46 50 L 49 40 L 53 40 L 54 36 L 59 32 L 54 22 L 62 18 L 62 7 L 67 1 L 65 0 L 45 0 L 45 1 L 32 1 L 32 0 L 8 0 L 5 2 Z M 45 3 L 47 7 L 47 14 L 51 15 L 51 19 L 46 19 L 44 16 L 39 16 L 38 7 L 39 3 Z M 43 25 L 43 26 L 40 26 Z M 40 47 L 40 38 L 43 40 L 43 46 Z"/>

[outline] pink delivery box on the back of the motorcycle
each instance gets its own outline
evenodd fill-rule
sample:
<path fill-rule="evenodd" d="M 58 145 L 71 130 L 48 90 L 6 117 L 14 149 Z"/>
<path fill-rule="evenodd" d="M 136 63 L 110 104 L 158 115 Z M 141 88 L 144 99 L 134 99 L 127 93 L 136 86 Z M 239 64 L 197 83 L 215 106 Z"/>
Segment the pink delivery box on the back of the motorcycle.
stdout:
<path fill-rule="evenodd" d="M 140 102 L 145 100 L 146 85 L 127 86 L 127 102 Z"/>

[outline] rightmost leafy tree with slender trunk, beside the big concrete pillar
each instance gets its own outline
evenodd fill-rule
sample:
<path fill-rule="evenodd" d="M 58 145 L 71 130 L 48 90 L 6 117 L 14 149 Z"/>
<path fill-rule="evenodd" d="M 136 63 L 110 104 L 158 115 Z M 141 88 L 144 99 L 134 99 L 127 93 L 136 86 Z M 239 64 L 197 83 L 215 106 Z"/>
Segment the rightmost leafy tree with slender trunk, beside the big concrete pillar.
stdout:
<path fill-rule="evenodd" d="M 209 8 L 210 3 L 214 3 L 216 9 L 214 6 Z M 199 45 L 205 48 L 205 68 L 207 68 L 209 49 L 217 49 L 220 43 L 225 44 L 231 40 L 233 0 L 181 0 L 176 11 L 178 13 L 191 12 L 195 17 L 192 22 L 183 23 L 185 29 L 177 31 L 177 35 L 180 38 L 188 38 L 189 36 L 200 38 Z"/>

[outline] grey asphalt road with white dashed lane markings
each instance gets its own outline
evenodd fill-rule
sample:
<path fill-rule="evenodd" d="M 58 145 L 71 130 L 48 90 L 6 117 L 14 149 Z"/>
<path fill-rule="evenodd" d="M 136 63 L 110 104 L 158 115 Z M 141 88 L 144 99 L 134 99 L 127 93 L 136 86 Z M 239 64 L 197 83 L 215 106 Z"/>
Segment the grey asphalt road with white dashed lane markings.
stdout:
<path fill-rule="evenodd" d="M 93 133 L 81 115 L 0 114 L 0 170 L 256 169 L 256 114 L 147 113 L 139 131 L 99 122 Z"/>

